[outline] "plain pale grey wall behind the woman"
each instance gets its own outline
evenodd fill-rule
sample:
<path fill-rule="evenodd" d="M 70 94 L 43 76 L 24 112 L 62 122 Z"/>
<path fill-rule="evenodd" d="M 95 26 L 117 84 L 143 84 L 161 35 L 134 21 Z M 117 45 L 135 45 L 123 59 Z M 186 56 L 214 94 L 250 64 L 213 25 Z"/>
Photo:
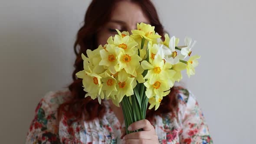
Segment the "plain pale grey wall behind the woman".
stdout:
<path fill-rule="evenodd" d="M 201 55 L 184 84 L 215 144 L 256 142 L 256 1 L 154 0 L 165 29 Z M 90 0 L 0 0 L 0 139 L 24 143 L 37 103 L 70 82 L 75 34 Z"/>

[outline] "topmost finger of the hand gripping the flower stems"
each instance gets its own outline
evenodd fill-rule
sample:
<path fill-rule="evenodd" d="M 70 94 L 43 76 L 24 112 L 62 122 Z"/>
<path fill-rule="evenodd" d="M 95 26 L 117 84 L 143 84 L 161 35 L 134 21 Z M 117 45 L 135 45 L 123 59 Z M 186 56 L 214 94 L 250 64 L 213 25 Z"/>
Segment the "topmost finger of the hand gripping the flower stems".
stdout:
<path fill-rule="evenodd" d="M 135 131 L 140 128 L 142 128 L 144 131 L 150 131 L 150 130 L 154 129 L 154 127 L 151 125 L 151 123 L 147 119 L 143 119 L 143 120 L 136 121 L 136 122 L 132 123 L 128 127 L 128 130 Z"/>

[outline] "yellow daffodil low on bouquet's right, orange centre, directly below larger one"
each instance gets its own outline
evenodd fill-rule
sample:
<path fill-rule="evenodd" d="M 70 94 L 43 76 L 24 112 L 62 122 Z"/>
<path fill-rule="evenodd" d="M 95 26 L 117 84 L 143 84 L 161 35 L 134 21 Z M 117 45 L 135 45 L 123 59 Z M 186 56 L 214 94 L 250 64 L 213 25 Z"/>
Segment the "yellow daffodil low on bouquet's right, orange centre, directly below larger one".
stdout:
<path fill-rule="evenodd" d="M 146 96 L 148 98 L 152 98 L 155 95 L 158 95 L 160 98 L 168 95 L 170 93 L 170 88 L 173 85 L 169 85 L 170 82 L 168 80 L 157 80 L 157 81 L 146 81 L 144 85 L 146 86 Z"/>

